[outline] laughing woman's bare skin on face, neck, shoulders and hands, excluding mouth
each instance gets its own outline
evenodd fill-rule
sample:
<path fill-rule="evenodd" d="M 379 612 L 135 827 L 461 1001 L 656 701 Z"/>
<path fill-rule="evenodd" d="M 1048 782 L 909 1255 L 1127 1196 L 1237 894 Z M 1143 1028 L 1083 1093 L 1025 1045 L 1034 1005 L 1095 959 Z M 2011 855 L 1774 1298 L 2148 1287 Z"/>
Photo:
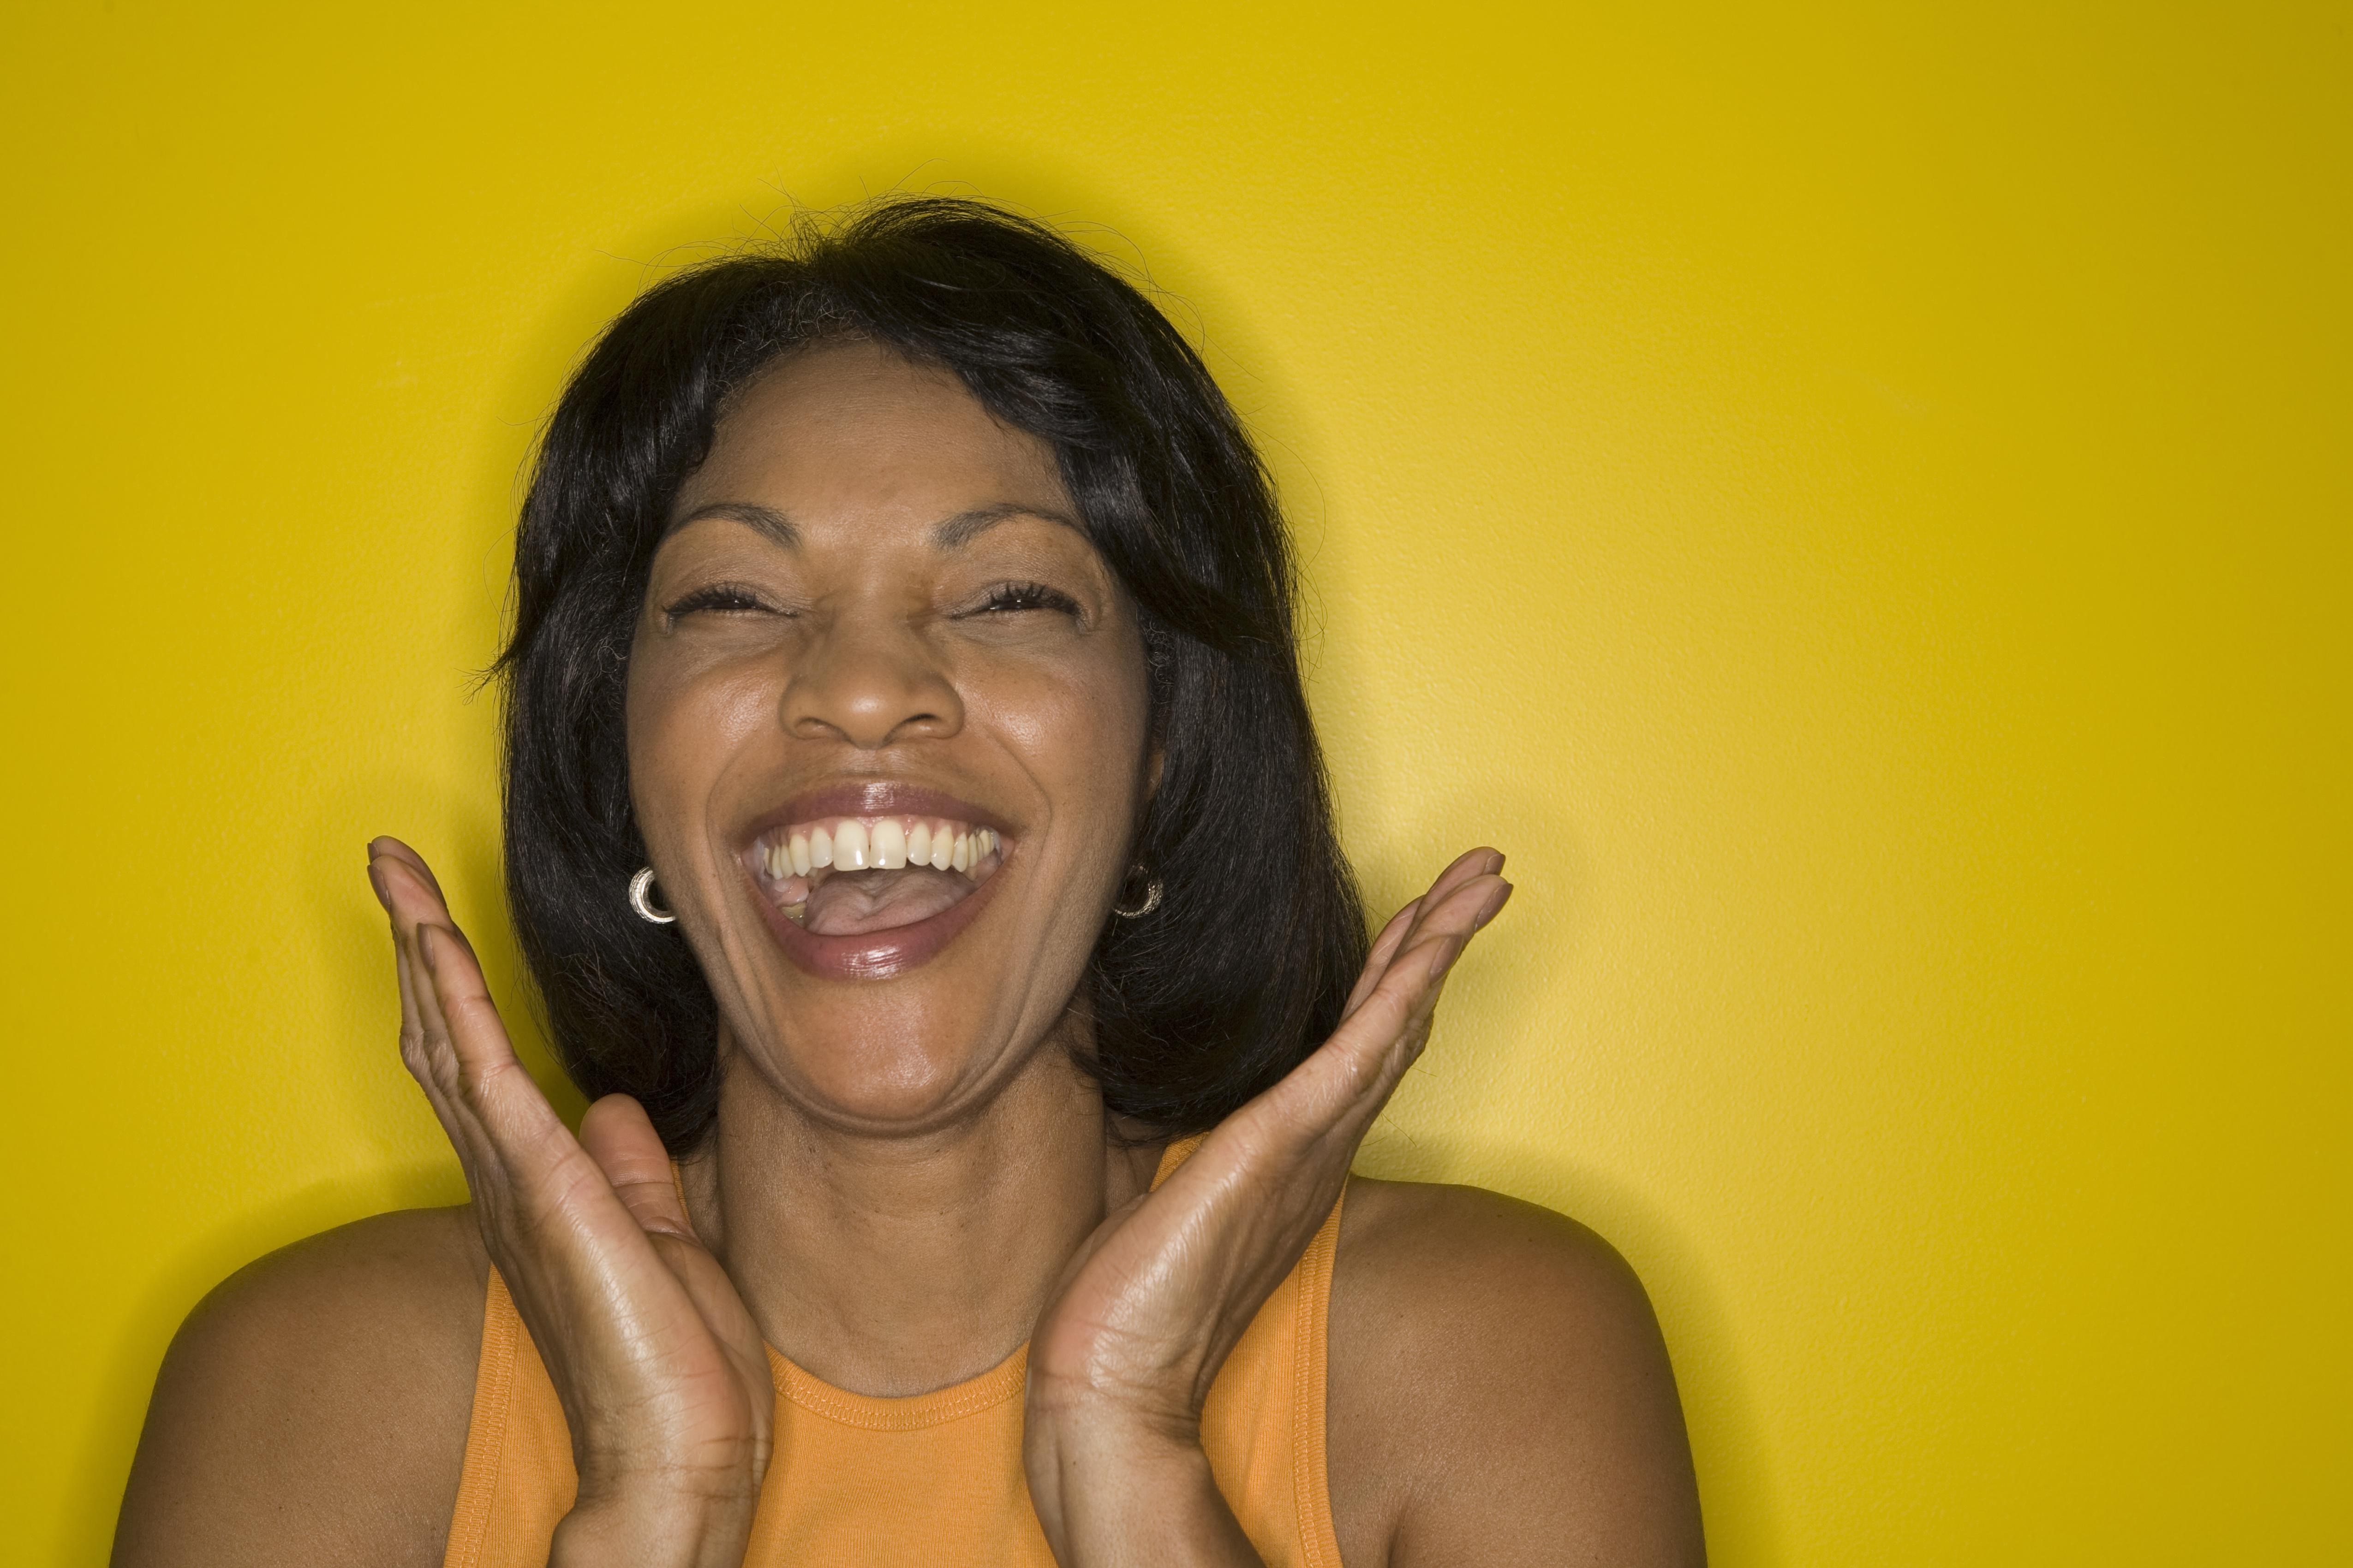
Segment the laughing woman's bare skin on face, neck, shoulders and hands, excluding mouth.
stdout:
<path fill-rule="evenodd" d="M 1059 1561 L 1259 1561 L 1202 1396 L 1511 889 L 1494 851 L 1449 865 L 1332 1041 L 1146 1194 L 1158 1150 L 1073 1067 L 1155 757 L 1134 609 L 1071 517 L 1040 442 L 878 348 L 802 353 L 734 402 L 628 689 L 638 820 L 722 1016 L 685 1208 L 635 1103 L 576 1138 L 555 1119 L 431 870 L 379 839 L 402 1058 L 473 1204 L 329 1232 L 198 1307 L 118 1563 L 438 1563 L 492 1262 L 572 1425 L 553 1563 L 741 1563 L 774 1458 L 762 1340 L 864 1394 L 1028 1342 L 1024 1460 Z M 788 961 L 739 860 L 762 813 L 845 780 L 944 790 L 1009 842 L 972 924 L 882 978 Z M 1673 1375 L 1617 1253 L 1487 1192 L 1348 1192 L 1327 1418 L 1351 1568 L 1699 1563 Z"/>

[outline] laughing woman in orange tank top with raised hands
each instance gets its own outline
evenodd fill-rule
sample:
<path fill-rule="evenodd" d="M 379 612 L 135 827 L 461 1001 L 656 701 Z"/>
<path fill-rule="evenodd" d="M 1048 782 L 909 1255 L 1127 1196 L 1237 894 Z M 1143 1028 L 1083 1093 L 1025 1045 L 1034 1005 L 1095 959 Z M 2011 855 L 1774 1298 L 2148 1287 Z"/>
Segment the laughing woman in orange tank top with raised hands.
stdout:
<path fill-rule="evenodd" d="M 1200 360 L 1045 228 L 892 202 L 640 299 L 504 656 L 595 1103 L 376 839 L 473 1204 L 221 1286 L 115 1561 L 1697 1563 L 1624 1262 L 1348 1178 L 1511 889 L 1471 851 L 1367 950 L 1289 583 Z"/>

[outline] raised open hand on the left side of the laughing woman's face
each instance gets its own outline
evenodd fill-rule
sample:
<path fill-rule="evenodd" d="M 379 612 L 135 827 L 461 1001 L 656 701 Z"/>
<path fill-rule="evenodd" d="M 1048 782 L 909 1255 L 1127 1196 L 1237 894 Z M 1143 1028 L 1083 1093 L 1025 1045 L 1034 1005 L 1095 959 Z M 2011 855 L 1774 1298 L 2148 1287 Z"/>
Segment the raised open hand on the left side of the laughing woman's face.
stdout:
<path fill-rule="evenodd" d="M 645 1107 L 605 1095 L 574 1138 L 515 1060 L 424 858 L 400 839 L 367 856 L 393 917 L 400 1058 L 572 1427 L 579 1495 L 548 1561 L 739 1568 L 774 1429 L 767 1347 Z"/>

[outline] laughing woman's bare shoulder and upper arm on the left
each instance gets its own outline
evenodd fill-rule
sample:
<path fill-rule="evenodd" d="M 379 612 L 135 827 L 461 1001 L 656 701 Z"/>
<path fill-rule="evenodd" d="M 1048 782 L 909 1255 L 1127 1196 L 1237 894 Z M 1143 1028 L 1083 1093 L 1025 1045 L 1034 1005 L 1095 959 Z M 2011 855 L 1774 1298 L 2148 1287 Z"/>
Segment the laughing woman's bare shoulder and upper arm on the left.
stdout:
<path fill-rule="evenodd" d="M 181 1324 L 115 1566 L 435 1566 L 466 1458 L 489 1262 L 412 1208 L 238 1269 Z"/>

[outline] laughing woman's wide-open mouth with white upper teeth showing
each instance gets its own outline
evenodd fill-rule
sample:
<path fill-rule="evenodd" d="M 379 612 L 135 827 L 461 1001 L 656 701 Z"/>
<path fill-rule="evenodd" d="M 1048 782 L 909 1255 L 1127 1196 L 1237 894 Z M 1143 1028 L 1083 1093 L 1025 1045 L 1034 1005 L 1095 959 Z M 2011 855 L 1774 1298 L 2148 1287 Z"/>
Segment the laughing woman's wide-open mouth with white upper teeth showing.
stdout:
<path fill-rule="evenodd" d="M 760 893 L 812 936 L 922 924 L 1005 865 L 1005 839 L 941 816 L 824 816 L 762 832 L 744 851 Z"/>

